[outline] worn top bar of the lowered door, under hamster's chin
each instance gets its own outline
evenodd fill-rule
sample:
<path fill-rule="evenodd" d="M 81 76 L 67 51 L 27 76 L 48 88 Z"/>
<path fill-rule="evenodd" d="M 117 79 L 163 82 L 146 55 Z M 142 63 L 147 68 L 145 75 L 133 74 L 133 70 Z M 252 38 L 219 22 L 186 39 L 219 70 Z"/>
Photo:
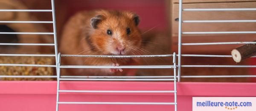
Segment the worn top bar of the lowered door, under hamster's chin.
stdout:
<path fill-rule="evenodd" d="M 172 57 L 173 55 L 61 55 L 61 57 L 100 57 L 100 58 L 142 58 L 142 57 Z"/>

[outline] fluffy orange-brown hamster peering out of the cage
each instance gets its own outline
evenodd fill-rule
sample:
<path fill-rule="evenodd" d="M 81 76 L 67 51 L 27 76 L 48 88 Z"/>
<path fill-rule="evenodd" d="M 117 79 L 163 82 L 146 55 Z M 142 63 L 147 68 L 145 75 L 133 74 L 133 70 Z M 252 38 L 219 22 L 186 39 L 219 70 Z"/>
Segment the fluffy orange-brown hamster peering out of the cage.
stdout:
<path fill-rule="evenodd" d="M 139 16 L 129 11 L 82 11 L 70 18 L 61 36 L 61 54 L 75 55 L 139 55 L 141 32 Z M 131 65 L 138 58 L 83 58 L 66 57 L 61 62 L 69 65 Z M 65 75 L 113 75 L 122 69 L 63 69 Z M 127 74 L 128 73 L 128 74 Z M 134 75 L 124 70 L 122 75 Z"/>

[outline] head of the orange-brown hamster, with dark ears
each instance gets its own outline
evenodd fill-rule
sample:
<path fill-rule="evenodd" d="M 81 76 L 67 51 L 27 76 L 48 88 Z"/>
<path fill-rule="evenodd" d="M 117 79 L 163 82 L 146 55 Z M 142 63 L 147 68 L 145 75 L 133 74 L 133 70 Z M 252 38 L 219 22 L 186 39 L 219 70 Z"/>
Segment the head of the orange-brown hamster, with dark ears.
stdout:
<path fill-rule="evenodd" d="M 139 16 L 128 11 L 98 11 L 91 20 L 92 45 L 105 55 L 134 55 L 142 42 Z"/>

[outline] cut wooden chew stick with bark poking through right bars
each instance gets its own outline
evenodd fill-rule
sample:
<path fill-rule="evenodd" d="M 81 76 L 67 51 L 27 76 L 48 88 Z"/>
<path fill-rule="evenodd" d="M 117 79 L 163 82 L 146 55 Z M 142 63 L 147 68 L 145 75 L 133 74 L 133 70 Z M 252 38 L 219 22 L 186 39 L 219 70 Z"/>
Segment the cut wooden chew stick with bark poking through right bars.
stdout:
<path fill-rule="evenodd" d="M 256 41 L 253 41 L 256 42 Z M 241 62 L 245 58 L 249 58 L 253 55 L 256 55 L 256 44 L 245 44 L 241 47 L 233 49 L 231 51 L 232 58 L 237 63 Z"/>

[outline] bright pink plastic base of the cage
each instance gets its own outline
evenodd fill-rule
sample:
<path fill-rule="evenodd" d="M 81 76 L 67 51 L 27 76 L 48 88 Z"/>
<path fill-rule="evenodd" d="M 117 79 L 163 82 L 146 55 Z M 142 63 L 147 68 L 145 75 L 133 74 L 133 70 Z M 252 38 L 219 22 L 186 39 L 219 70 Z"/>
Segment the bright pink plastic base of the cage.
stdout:
<path fill-rule="evenodd" d="M 56 81 L 0 81 L 0 111 L 55 111 Z M 173 90 L 173 82 L 61 81 L 61 89 Z M 256 97 L 256 83 L 177 83 L 178 111 L 192 97 Z M 173 102 L 173 93 L 60 93 L 60 101 Z M 174 111 L 174 105 L 59 105 L 59 111 Z"/>

